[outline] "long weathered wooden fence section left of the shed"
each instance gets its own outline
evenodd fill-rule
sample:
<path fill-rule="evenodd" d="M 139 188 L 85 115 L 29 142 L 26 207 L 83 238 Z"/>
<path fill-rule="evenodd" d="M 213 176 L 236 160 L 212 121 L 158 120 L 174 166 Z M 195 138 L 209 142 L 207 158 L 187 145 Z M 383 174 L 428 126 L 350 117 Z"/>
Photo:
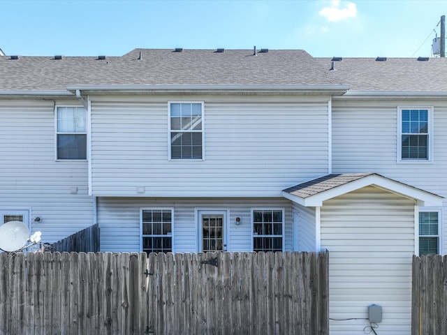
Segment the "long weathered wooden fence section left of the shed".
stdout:
<path fill-rule="evenodd" d="M 1 334 L 328 334 L 328 253 L 1 253 Z"/>

